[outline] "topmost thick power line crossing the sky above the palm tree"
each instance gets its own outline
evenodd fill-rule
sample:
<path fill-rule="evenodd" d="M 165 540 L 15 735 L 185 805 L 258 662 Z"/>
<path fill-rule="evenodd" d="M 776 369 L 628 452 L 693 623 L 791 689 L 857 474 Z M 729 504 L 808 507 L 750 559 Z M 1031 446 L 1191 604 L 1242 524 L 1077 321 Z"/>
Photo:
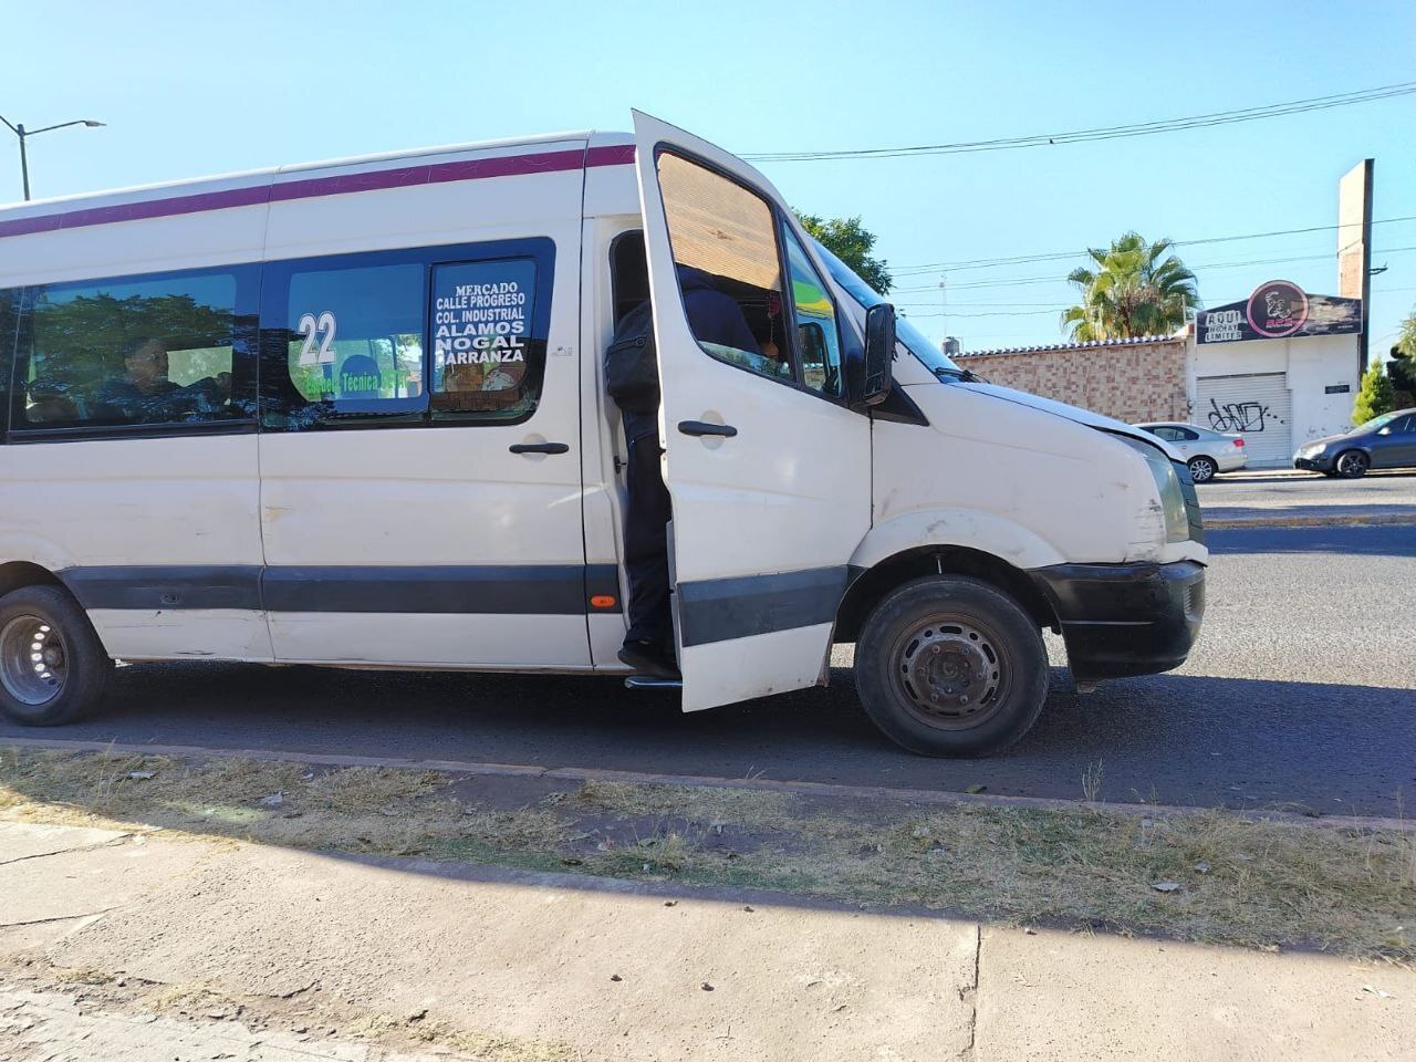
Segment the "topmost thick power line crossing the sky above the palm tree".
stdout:
<path fill-rule="evenodd" d="M 1116 140 L 1129 136 L 1151 136 L 1155 133 L 1170 133 L 1181 129 L 1202 129 L 1208 126 L 1235 125 L 1238 122 L 1259 122 L 1267 118 L 1283 115 L 1300 115 L 1310 110 L 1330 110 L 1355 103 L 1371 103 L 1379 99 L 1408 96 L 1416 92 L 1416 81 L 1405 81 L 1395 85 L 1379 85 L 1354 92 L 1335 92 L 1327 96 L 1310 96 L 1294 99 L 1287 103 L 1269 103 L 1257 108 L 1240 108 L 1236 110 L 1215 110 L 1208 115 L 1189 115 L 1188 118 L 1168 118 L 1155 122 L 1133 122 L 1120 126 L 1103 126 L 1099 129 L 1076 129 L 1066 133 L 1038 133 L 1034 136 L 1010 136 L 993 140 L 961 140 L 942 144 L 915 144 L 912 147 L 860 147 L 850 150 L 817 150 L 817 152 L 767 152 L 762 154 L 743 154 L 749 161 L 796 163 L 820 161 L 827 159 L 896 159 L 920 154 L 969 154 L 974 152 L 1007 152 L 1021 147 L 1046 147 L 1048 144 L 1086 143 L 1092 140 Z"/>

